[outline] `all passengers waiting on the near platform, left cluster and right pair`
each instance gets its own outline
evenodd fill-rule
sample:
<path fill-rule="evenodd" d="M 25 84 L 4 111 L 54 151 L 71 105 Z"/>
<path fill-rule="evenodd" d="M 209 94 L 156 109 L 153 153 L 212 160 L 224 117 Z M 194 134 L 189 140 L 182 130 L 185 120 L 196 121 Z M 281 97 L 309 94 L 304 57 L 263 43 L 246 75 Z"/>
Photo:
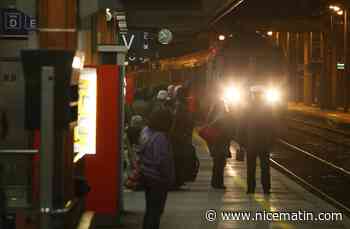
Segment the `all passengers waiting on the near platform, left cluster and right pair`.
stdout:
<path fill-rule="evenodd" d="M 136 184 L 145 190 L 144 229 L 159 228 L 168 191 L 193 181 L 198 172 L 199 162 L 195 165 L 188 163 L 196 161 L 192 146 L 195 115 L 188 109 L 188 97 L 188 88 L 170 85 L 167 90 L 159 90 L 152 99 L 136 95 L 130 108 L 132 115 L 126 139 L 132 150 L 128 150 L 127 158 L 131 170 L 138 168 Z M 213 158 L 211 186 L 215 189 L 226 188 L 224 167 L 230 157 L 230 142 L 235 139 L 247 151 L 247 193 L 255 192 L 257 157 L 261 161 L 264 193 L 270 193 L 268 161 L 274 139 L 274 119 L 271 109 L 263 105 L 261 91 L 254 92 L 252 98 L 251 106 L 238 112 L 241 113 L 239 118 L 237 113 L 227 112 L 220 100 L 213 103 L 206 115 L 206 125 L 220 129 L 220 136 L 215 141 L 207 141 Z"/>

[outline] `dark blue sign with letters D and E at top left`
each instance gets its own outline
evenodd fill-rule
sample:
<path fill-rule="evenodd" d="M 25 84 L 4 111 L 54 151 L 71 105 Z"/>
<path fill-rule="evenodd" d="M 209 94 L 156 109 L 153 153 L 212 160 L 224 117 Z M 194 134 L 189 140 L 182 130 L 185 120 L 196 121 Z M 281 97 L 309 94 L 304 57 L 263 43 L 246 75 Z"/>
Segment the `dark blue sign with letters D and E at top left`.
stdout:
<path fill-rule="evenodd" d="M 26 37 L 37 28 L 34 17 L 16 9 L 0 9 L 0 37 Z"/>

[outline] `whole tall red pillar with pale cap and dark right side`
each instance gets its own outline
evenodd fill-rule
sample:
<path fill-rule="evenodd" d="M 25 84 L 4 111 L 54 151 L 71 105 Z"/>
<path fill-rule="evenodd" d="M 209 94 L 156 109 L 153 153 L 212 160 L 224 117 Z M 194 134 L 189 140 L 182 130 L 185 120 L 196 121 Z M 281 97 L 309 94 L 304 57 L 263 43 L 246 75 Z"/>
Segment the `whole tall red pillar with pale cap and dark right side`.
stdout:
<path fill-rule="evenodd" d="M 120 220 L 123 211 L 124 46 L 98 47 L 97 154 L 86 158 L 87 209 Z M 115 131 L 108 132 L 107 129 Z M 101 165 L 103 165 L 101 167 Z M 103 179 L 101 179 L 103 178 Z M 108 189 L 108 191 L 106 191 Z"/>

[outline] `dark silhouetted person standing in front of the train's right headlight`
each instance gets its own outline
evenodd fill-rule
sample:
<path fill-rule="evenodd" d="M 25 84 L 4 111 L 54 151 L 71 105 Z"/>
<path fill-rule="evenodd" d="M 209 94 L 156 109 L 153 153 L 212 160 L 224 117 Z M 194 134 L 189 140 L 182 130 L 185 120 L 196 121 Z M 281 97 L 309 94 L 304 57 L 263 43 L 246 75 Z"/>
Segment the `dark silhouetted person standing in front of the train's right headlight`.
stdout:
<path fill-rule="evenodd" d="M 260 159 L 261 184 L 264 194 L 270 194 L 270 151 L 276 138 L 276 119 L 273 107 L 266 104 L 264 89 L 252 91 L 251 104 L 246 113 L 247 131 L 247 194 L 255 193 L 256 159 Z"/>

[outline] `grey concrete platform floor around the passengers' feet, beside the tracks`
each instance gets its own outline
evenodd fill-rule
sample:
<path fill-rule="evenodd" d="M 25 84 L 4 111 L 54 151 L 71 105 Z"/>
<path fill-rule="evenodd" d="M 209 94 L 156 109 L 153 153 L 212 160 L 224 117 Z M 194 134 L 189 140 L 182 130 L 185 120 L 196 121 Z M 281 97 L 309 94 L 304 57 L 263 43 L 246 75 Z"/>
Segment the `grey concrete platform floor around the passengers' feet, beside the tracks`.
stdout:
<path fill-rule="evenodd" d="M 225 183 L 226 191 L 214 190 L 210 187 L 211 160 L 207 155 L 201 155 L 201 170 L 197 181 L 188 185 L 188 191 L 171 192 L 168 196 L 166 210 L 161 221 L 161 228 L 166 229 L 205 229 L 205 228 L 318 228 L 318 229 L 346 229 L 350 228 L 349 219 L 345 216 L 337 222 L 269 222 L 269 221 L 223 221 L 208 222 L 205 218 L 206 211 L 215 209 L 217 217 L 220 211 L 235 212 L 297 212 L 307 211 L 318 214 L 319 212 L 338 212 L 324 201 L 313 196 L 299 185 L 295 184 L 284 175 L 272 171 L 272 194 L 266 197 L 261 194 L 261 186 L 258 185 L 255 195 L 245 193 L 245 163 L 230 160 L 226 166 Z M 142 192 L 128 192 L 125 194 L 126 210 L 137 214 L 133 227 L 141 228 L 142 213 L 144 211 L 144 195 Z M 126 222 L 125 222 L 126 223 Z M 127 227 L 127 224 L 125 224 Z"/>

